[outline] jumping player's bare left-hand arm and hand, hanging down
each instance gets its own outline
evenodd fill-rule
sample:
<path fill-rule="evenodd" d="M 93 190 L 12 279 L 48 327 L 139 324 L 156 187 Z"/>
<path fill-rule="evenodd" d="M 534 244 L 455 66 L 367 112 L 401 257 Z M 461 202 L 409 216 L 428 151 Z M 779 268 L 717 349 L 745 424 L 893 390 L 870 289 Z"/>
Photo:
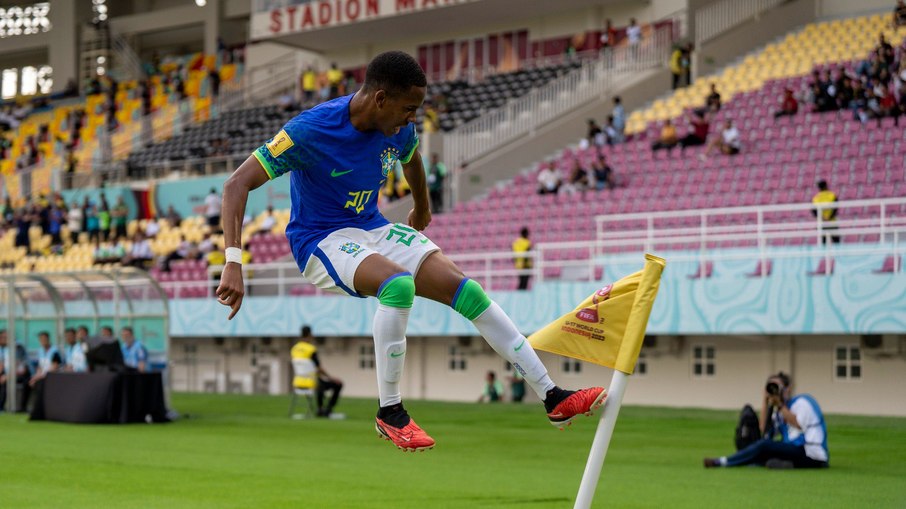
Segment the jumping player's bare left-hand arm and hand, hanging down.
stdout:
<path fill-rule="evenodd" d="M 242 218 L 249 191 L 258 189 L 269 179 L 261 162 L 252 155 L 230 175 L 223 184 L 223 245 L 242 249 Z M 229 262 L 223 268 L 220 285 L 217 287 L 217 301 L 232 309 L 228 320 L 239 312 L 245 287 L 242 283 L 242 265 Z"/>

